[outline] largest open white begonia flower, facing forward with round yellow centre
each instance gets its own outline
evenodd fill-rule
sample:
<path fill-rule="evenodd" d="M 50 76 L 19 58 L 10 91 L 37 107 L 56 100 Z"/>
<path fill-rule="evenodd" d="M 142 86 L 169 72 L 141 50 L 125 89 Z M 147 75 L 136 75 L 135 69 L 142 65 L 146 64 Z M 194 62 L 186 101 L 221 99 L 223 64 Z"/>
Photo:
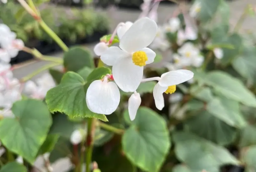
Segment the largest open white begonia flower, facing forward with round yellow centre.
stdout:
<path fill-rule="evenodd" d="M 156 22 L 141 18 L 120 39 L 119 47 L 109 47 L 101 56 L 103 63 L 113 66 L 112 73 L 118 87 L 134 92 L 140 85 L 143 66 L 154 62 L 156 53 L 148 47 L 157 33 Z"/>

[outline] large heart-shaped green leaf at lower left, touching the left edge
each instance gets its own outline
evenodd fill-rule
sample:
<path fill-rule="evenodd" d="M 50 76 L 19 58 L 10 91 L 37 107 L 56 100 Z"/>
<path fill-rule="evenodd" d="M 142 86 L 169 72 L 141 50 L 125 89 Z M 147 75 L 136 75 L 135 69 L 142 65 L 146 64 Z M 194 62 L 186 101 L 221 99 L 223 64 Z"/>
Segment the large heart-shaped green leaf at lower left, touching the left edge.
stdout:
<path fill-rule="evenodd" d="M 0 121 L 1 142 L 10 151 L 34 163 L 52 124 L 48 108 L 42 101 L 28 99 L 15 102 L 12 112 L 15 118 Z"/>

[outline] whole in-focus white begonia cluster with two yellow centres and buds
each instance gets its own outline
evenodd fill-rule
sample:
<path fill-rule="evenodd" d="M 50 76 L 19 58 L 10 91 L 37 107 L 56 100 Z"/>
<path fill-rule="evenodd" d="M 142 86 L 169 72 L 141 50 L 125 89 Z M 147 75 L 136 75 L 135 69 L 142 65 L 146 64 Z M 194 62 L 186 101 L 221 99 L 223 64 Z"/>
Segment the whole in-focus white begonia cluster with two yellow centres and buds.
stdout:
<path fill-rule="evenodd" d="M 95 54 L 100 55 L 103 63 L 112 66 L 113 75 L 108 74 L 102 80 L 93 81 L 89 86 L 86 102 L 92 112 L 112 114 L 120 102 L 120 88 L 124 92 L 134 92 L 128 101 L 129 115 L 131 120 L 134 120 L 141 103 L 140 94 L 136 92 L 141 82 L 158 81 L 153 96 L 156 107 L 162 110 L 163 93 L 174 93 L 176 85 L 193 78 L 193 72 L 177 70 L 164 73 L 161 77 L 143 79 L 144 66 L 153 63 L 156 57 L 156 53 L 147 48 L 156 34 L 156 22 L 144 17 L 133 24 L 126 22 L 117 28 L 119 47 L 108 47 L 108 43 L 102 42 L 95 46 Z"/>

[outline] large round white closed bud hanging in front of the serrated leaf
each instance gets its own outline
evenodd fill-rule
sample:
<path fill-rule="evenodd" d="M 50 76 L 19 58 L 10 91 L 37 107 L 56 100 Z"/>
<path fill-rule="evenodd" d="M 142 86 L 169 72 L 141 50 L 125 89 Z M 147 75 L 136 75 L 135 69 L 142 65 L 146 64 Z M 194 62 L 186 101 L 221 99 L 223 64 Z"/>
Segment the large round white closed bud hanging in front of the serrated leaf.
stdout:
<path fill-rule="evenodd" d="M 98 114 L 112 114 L 119 105 L 120 92 L 114 82 L 96 80 L 86 92 L 87 106 Z"/>

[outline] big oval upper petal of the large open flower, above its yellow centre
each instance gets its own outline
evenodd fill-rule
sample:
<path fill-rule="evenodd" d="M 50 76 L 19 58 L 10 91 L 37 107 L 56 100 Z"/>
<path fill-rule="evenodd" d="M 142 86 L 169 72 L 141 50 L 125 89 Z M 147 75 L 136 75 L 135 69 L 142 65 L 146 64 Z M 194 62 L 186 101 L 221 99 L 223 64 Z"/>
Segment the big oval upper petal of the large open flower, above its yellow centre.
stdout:
<path fill-rule="evenodd" d="M 156 22 L 145 17 L 138 19 L 120 40 L 120 48 L 133 53 L 152 43 L 157 33 Z"/>

